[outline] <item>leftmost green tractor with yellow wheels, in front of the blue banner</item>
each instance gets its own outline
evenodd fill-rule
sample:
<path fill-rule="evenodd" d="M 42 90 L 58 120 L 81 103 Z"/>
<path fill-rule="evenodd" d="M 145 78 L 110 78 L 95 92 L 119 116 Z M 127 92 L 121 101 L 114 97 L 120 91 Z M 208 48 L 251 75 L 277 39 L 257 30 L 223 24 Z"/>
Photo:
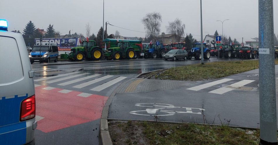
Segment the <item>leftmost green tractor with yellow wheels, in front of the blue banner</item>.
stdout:
<path fill-rule="evenodd" d="M 89 42 L 83 41 L 81 46 L 73 47 L 68 55 L 68 59 L 70 61 L 83 61 L 85 58 L 90 61 L 98 61 L 102 56 L 102 49 L 96 46 L 94 40 L 89 40 Z"/>

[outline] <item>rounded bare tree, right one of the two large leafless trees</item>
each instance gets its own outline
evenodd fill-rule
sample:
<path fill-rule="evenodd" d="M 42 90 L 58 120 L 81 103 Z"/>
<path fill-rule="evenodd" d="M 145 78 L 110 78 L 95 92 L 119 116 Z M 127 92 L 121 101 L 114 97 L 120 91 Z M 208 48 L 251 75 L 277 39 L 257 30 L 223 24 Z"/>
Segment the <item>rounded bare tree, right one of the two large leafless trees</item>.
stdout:
<path fill-rule="evenodd" d="M 175 35 L 176 42 L 180 42 L 181 37 L 184 36 L 185 25 L 179 18 L 176 18 L 173 22 L 169 22 L 169 26 L 166 26 L 166 29 Z"/>

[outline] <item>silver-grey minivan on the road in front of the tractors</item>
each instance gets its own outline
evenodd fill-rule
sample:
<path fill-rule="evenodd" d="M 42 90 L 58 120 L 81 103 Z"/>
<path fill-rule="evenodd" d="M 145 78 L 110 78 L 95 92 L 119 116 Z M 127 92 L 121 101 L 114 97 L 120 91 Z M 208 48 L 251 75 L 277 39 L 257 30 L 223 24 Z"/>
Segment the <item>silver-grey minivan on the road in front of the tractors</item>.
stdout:
<path fill-rule="evenodd" d="M 180 50 L 180 49 L 172 49 L 169 52 L 167 52 L 164 55 L 164 59 L 172 59 L 173 61 L 178 60 L 178 59 L 187 59 L 187 51 L 186 50 Z"/>

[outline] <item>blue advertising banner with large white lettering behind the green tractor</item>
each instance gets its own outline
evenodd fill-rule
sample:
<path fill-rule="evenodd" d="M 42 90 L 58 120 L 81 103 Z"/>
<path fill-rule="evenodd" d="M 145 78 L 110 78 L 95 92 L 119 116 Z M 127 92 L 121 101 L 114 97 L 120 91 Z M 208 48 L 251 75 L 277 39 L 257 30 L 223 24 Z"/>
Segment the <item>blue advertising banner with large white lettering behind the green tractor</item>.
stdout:
<path fill-rule="evenodd" d="M 71 48 L 79 46 L 80 38 L 43 38 L 42 41 L 54 42 L 58 46 L 58 51 L 71 51 Z M 35 38 L 35 42 L 40 42 L 40 38 Z"/>

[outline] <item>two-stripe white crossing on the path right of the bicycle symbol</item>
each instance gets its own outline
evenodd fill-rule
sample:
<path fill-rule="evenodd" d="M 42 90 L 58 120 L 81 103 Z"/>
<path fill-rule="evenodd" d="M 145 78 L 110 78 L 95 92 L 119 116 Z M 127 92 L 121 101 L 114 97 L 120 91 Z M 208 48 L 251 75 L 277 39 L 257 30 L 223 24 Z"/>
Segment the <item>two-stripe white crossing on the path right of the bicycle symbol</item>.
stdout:
<path fill-rule="evenodd" d="M 225 79 L 221 79 L 221 80 L 201 84 L 201 85 L 198 85 L 198 86 L 195 86 L 195 87 L 191 87 L 191 88 L 188 88 L 188 90 L 199 91 L 199 90 L 206 89 L 206 88 L 211 88 L 211 87 L 213 87 L 217 84 L 223 84 L 225 82 L 229 82 L 229 81 L 232 81 L 232 80 L 234 80 L 234 79 L 225 78 Z M 244 87 L 245 85 L 250 84 L 251 82 L 254 82 L 254 81 L 255 80 L 241 80 L 239 82 L 230 84 L 228 86 L 221 87 L 221 88 L 218 88 L 218 89 L 214 89 L 214 90 L 210 91 L 209 93 L 224 94 L 224 93 L 227 93 L 229 91 L 236 90 L 236 89 L 239 89 L 241 87 Z"/>

